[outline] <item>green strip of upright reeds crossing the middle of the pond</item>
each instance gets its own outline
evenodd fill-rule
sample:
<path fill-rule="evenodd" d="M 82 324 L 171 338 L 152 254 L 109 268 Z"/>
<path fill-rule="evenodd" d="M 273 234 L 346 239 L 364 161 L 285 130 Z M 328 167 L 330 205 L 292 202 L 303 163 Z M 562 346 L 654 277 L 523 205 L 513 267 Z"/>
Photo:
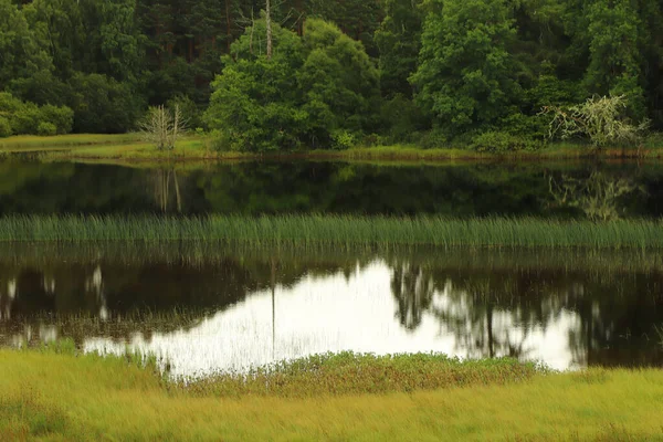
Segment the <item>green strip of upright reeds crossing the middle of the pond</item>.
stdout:
<path fill-rule="evenodd" d="M 537 218 L 33 215 L 0 218 L 0 241 L 229 241 L 255 246 L 663 248 L 663 220 L 606 223 Z"/>

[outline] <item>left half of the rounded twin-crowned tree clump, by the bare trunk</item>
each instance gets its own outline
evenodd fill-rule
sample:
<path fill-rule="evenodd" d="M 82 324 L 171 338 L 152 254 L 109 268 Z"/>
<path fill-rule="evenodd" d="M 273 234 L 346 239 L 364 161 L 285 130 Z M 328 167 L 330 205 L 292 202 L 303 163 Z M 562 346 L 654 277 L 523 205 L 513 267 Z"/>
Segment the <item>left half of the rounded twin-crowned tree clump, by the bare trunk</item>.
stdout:
<path fill-rule="evenodd" d="M 212 84 L 208 125 L 236 150 L 297 147 L 308 118 L 299 108 L 295 73 L 304 63 L 301 39 L 274 27 L 274 54 L 267 60 L 264 21 L 231 46 L 227 66 Z"/>

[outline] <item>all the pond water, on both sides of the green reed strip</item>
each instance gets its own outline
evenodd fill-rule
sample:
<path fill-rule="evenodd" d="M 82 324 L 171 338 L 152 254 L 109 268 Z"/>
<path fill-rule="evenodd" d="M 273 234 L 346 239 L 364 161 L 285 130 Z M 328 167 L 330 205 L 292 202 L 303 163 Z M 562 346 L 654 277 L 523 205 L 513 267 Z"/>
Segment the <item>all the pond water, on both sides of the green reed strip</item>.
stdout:
<path fill-rule="evenodd" d="M 0 214 L 660 218 L 648 164 L 161 169 L 0 162 Z M 324 351 L 661 366 L 659 252 L 0 244 L 0 345 L 71 338 L 203 376 Z"/>

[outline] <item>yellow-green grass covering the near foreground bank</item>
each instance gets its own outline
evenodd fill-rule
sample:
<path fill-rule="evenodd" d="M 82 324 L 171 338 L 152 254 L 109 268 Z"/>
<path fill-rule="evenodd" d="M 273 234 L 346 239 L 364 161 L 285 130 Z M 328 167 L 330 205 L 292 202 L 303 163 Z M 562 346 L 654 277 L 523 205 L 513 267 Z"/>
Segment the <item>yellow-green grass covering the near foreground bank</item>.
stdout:
<path fill-rule="evenodd" d="M 1 440 L 656 441 L 663 371 L 292 397 L 173 388 L 123 359 L 0 351 Z"/>

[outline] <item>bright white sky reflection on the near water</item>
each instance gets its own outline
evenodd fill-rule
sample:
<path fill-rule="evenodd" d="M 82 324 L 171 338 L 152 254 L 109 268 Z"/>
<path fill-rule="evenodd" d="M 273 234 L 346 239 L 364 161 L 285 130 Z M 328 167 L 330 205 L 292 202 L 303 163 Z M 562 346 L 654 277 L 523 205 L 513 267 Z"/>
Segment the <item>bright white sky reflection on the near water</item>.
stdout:
<path fill-rule="evenodd" d="M 391 276 L 392 270 L 381 261 L 357 270 L 348 280 L 343 273 L 305 276 L 290 288 L 276 286 L 274 309 L 272 292 L 256 292 L 190 329 L 154 333 L 149 339 L 138 334 L 128 344 L 90 338 L 84 349 L 102 354 L 124 354 L 127 349 L 152 354 L 168 360 L 170 372 L 176 377 L 242 370 L 275 360 L 341 350 L 487 356 L 485 349 L 467 348 L 456 338 L 457 333 L 440 323 L 430 309 L 423 313 L 420 326 L 406 329 L 396 314 L 398 302 L 391 294 Z M 457 292 L 452 296 L 453 291 L 448 284 L 444 290 L 434 292 L 432 308 L 442 308 L 462 318 L 470 314 L 472 305 L 459 302 L 463 297 Z M 573 368 L 569 333 L 578 329 L 579 324 L 577 314 L 556 312 L 545 330 L 539 325 L 530 325 L 525 335 L 512 314 L 496 309 L 493 336 L 516 343 L 527 359 L 567 369 Z M 467 327 L 471 327 L 470 322 Z M 475 338 L 472 333 L 465 335 L 470 340 Z M 495 356 L 503 352 L 496 348 Z"/>

